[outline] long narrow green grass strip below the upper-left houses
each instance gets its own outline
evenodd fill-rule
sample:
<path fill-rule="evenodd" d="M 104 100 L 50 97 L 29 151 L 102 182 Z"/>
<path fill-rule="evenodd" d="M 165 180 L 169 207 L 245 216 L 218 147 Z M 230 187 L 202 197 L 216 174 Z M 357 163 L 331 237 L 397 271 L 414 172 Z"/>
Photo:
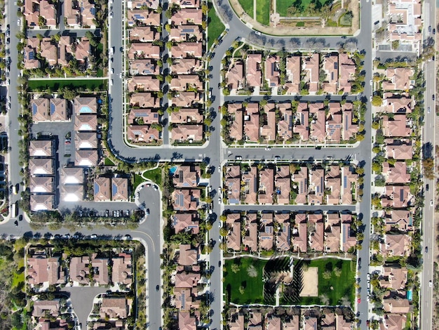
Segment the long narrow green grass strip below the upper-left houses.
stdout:
<path fill-rule="evenodd" d="M 99 88 L 100 91 L 107 89 L 107 81 L 104 79 L 72 79 L 72 80 L 56 80 L 56 79 L 38 79 L 29 80 L 29 89 L 32 91 L 35 88 L 58 91 L 59 88 L 69 87 L 72 89 L 90 89 L 95 90 Z"/>

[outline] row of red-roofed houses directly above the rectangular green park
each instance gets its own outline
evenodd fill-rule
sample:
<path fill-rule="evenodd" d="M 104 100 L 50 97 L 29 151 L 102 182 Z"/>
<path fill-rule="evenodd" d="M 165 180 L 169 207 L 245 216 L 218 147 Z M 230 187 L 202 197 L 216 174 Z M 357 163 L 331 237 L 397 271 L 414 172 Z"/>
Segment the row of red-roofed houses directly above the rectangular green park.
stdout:
<path fill-rule="evenodd" d="M 348 252 L 356 246 L 351 213 L 226 213 L 229 251 Z"/>

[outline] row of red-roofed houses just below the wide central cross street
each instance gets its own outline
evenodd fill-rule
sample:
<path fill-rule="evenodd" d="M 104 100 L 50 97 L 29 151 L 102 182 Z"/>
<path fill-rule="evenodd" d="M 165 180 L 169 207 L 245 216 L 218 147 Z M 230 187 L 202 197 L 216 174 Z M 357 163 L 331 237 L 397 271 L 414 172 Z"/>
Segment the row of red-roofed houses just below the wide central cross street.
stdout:
<path fill-rule="evenodd" d="M 358 174 L 353 166 L 259 167 L 224 166 L 224 199 L 229 204 L 346 205 L 358 200 Z"/>

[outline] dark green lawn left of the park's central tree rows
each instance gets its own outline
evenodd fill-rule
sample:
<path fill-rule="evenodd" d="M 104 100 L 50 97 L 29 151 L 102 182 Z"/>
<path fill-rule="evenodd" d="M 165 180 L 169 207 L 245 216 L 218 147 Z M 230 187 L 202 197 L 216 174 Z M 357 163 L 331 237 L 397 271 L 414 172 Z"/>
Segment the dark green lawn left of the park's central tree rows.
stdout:
<path fill-rule="evenodd" d="M 232 260 L 224 260 L 224 292 L 230 294 L 230 302 L 237 304 L 247 303 L 264 303 L 262 282 L 262 270 L 267 260 L 259 260 L 255 258 L 236 258 Z M 231 271 L 231 265 L 241 263 L 236 274 Z M 257 270 L 256 277 L 248 276 L 248 266 L 253 265 Z M 239 291 L 239 287 L 245 289 L 243 294 Z"/>

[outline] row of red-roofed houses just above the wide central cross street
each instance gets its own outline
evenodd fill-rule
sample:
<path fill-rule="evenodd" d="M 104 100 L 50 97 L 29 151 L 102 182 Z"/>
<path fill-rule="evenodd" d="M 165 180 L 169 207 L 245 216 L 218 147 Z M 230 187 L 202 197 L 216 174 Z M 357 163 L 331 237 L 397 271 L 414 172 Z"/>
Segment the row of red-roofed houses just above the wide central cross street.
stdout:
<path fill-rule="evenodd" d="M 228 103 L 224 140 L 231 143 L 354 142 L 358 110 L 352 103 Z"/>

